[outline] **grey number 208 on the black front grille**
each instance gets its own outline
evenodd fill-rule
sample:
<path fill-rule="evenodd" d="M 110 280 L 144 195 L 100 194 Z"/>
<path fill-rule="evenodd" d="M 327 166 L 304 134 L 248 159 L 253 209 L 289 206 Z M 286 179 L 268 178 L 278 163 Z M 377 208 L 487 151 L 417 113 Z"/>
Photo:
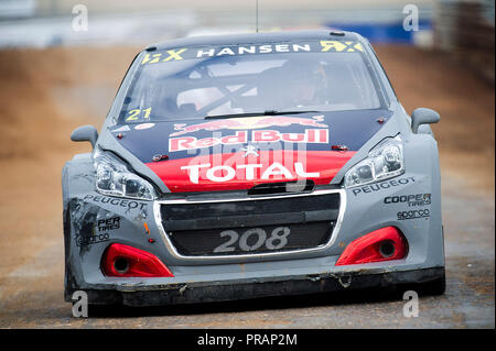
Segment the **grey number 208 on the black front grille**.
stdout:
<path fill-rule="evenodd" d="M 288 227 L 278 227 L 267 238 L 267 232 L 261 228 L 248 229 L 239 237 L 234 230 L 225 230 L 220 232 L 220 238 L 229 237 L 225 243 L 214 249 L 214 252 L 233 252 L 236 250 L 235 245 L 238 244 L 242 251 L 255 251 L 260 249 L 263 244 L 268 250 L 279 250 L 288 244 L 288 237 L 291 233 Z M 249 238 L 256 237 L 256 241 L 252 244 L 248 243 Z"/>

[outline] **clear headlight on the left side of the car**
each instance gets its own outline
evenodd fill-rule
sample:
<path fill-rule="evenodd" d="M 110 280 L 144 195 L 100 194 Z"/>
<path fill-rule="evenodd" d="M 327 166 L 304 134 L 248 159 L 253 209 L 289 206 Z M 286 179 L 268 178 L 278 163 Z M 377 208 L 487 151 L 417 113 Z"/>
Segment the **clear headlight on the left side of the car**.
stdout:
<path fill-rule="evenodd" d="M 144 200 L 155 198 L 155 191 L 150 183 L 129 172 L 116 156 L 95 150 L 93 157 L 98 193 Z"/>

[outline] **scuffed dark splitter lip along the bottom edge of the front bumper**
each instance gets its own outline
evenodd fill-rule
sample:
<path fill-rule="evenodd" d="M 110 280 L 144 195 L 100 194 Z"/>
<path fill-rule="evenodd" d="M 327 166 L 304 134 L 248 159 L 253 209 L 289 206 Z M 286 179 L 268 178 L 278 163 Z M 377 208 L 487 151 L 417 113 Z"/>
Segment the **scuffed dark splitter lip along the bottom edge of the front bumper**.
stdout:
<path fill-rule="evenodd" d="M 90 304 L 145 307 L 384 288 L 410 283 L 429 283 L 443 277 L 443 275 L 444 267 L 432 267 L 405 272 L 291 275 L 278 279 L 234 279 L 128 288 L 121 286 L 119 289 L 90 289 L 86 293 Z"/>

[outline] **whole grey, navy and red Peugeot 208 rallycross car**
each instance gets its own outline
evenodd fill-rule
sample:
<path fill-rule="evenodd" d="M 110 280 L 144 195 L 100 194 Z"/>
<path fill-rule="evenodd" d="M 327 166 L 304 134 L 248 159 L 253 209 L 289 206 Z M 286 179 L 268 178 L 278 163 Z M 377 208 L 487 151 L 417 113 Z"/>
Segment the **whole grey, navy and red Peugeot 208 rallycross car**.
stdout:
<path fill-rule="evenodd" d="M 63 169 L 65 298 L 444 290 L 438 147 L 348 32 L 188 37 L 131 64 Z"/>

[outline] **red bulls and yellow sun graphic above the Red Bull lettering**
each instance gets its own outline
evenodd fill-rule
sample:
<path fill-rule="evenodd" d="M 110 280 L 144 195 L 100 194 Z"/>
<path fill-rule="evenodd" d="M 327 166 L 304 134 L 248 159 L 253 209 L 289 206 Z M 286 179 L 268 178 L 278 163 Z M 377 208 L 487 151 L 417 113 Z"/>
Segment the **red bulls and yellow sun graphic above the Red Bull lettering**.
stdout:
<path fill-rule="evenodd" d="M 313 118 L 301 117 L 285 117 L 285 116 L 258 116 L 246 118 L 222 119 L 217 121 L 209 121 L 200 124 L 186 125 L 175 124 L 174 130 L 170 136 L 179 136 L 186 133 L 194 133 L 198 131 L 218 131 L 222 129 L 259 129 L 269 127 L 289 127 L 291 124 L 300 124 L 304 127 L 327 128 L 327 124 L 320 123 L 324 120 L 323 116 L 314 116 Z"/>

